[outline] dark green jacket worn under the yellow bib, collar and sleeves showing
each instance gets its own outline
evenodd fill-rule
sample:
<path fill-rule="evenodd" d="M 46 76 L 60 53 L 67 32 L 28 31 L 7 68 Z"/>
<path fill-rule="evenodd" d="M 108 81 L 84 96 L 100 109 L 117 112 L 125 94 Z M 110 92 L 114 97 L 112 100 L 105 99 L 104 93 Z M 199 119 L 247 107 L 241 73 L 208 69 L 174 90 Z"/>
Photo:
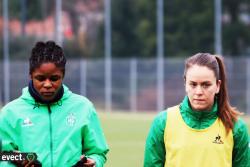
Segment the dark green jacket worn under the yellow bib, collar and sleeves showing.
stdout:
<path fill-rule="evenodd" d="M 217 108 L 217 103 L 215 103 L 211 111 L 193 111 L 189 106 L 187 96 L 180 104 L 182 118 L 189 127 L 194 129 L 205 129 L 212 125 L 217 119 Z M 167 111 L 163 111 L 156 116 L 151 125 L 146 141 L 144 167 L 163 167 L 165 164 L 167 153 L 164 144 L 164 130 L 166 121 Z M 242 119 L 238 119 L 234 125 L 233 139 L 233 167 L 250 167 L 248 132 Z"/>

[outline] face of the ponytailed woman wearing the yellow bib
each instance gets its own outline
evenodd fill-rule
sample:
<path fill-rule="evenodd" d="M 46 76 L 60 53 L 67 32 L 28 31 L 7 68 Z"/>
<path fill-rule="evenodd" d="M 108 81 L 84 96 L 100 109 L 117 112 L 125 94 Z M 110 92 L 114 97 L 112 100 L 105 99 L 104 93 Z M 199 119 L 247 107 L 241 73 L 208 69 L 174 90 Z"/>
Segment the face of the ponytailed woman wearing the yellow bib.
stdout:
<path fill-rule="evenodd" d="M 191 107 L 196 111 L 210 110 L 214 97 L 220 90 L 220 80 L 216 80 L 212 70 L 205 66 L 193 65 L 186 72 L 185 89 Z"/>

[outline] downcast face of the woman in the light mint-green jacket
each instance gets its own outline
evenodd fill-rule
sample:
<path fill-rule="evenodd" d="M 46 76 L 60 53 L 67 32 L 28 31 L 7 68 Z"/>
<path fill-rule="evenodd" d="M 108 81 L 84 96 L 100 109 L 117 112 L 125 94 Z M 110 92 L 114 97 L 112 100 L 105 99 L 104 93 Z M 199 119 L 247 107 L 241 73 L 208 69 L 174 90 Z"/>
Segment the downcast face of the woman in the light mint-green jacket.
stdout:
<path fill-rule="evenodd" d="M 43 63 L 30 77 L 40 96 L 44 100 L 52 100 L 62 85 L 63 72 L 54 63 Z"/>

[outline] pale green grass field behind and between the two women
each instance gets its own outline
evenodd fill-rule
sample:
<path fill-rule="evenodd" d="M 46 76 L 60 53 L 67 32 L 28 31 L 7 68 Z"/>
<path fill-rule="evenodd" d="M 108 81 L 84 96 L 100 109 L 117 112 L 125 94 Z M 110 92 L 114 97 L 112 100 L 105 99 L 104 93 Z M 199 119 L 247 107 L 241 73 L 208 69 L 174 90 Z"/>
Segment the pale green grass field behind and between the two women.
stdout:
<path fill-rule="evenodd" d="M 110 152 L 105 167 L 143 166 L 144 145 L 151 122 L 157 113 L 98 113 Z M 250 117 L 243 118 L 248 124 Z"/>

